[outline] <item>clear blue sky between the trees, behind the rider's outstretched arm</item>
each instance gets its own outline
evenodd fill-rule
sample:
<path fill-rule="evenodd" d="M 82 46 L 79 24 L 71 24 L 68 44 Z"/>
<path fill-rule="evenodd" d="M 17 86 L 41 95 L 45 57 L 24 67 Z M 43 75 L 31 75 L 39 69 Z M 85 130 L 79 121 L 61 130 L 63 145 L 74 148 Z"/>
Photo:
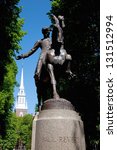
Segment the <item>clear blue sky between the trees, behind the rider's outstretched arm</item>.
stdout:
<path fill-rule="evenodd" d="M 51 2 L 50 0 L 20 0 L 19 6 L 23 6 L 20 16 L 25 20 L 23 30 L 27 32 L 27 35 L 25 35 L 20 42 L 22 50 L 19 54 L 23 54 L 28 52 L 33 47 L 34 43 L 43 37 L 41 33 L 42 27 L 50 26 L 51 22 L 47 16 L 47 12 L 51 9 Z M 16 80 L 20 84 L 23 64 L 24 87 L 28 103 L 28 113 L 33 114 L 35 105 L 38 102 L 33 76 L 40 50 L 41 49 L 38 49 L 33 55 L 26 59 L 16 61 L 18 66 Z M 15 99 L 17 97 L 18 90 L 19 88 L 16 87 L 14 92 Z"/>

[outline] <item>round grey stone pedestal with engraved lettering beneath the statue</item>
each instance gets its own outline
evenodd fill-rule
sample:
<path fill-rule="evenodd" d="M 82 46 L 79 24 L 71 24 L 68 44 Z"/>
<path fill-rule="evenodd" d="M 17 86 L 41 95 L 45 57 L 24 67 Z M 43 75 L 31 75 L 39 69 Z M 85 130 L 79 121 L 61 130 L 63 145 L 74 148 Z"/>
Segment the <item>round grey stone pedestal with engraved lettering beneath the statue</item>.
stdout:
<path fill-rule="evenodd" d="M 71 103 L 60 99 L 58 108 L 47 103 L 33 121 L 32 150 L 86 150 L 83 122 Z"/>

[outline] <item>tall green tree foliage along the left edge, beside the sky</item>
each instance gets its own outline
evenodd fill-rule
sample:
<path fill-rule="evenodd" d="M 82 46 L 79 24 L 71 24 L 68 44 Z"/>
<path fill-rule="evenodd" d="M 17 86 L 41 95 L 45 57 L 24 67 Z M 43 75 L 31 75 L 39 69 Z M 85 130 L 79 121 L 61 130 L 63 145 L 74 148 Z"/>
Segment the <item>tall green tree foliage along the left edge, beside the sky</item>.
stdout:
<path fill-rule="evenodd" d="M 25 34 L 22 31 L 19 0 L 0 1 L 0 135 L 4 136 L 9 125 L 14 102 L 17 66 L 15 53 L 20 50 L 19 41 Z"/>

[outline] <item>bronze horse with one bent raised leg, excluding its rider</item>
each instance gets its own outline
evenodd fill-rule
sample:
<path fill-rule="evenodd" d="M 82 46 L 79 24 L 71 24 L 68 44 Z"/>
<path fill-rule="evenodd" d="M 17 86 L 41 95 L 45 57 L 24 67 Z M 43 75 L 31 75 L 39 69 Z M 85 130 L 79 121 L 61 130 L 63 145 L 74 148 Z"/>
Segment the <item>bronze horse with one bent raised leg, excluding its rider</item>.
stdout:
<path fill-rule="evenodd" d="M 71 55 L 67 54 L 64 49 L 64 37 L 63 37 L 63 29 L 65 27 L 64 17 L 52 15 L 55 24 L 52 31 L 52 46 L 51 49 L 47 52 L 47 66 L 48 72 L 51 78 L 51 84 L 53 86 L 53 98 L 59 99 L 59 94 L 56 90 L 56 79 L 54 70 L 56 67 L 63 66 L 67 61 L 66 73 L 68 73 L 71 77 L 74 77 L 74 74 L 70 70 L 70 61 L 72 60 Z M 61 24 L 61 25 L 60 25 Z M 62 68 L 61 68 L 62 69 Z"/>

